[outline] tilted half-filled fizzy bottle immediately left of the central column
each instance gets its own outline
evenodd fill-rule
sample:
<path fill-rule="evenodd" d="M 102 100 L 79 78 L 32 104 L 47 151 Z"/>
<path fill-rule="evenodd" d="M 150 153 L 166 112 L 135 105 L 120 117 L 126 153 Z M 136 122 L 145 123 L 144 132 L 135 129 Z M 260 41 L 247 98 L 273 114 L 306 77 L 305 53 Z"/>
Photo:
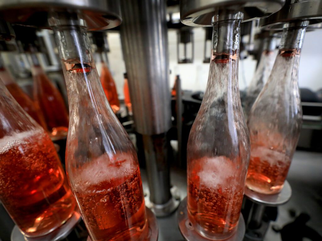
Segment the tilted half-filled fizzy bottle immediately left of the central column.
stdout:
<path fill-rule="evenodd" d="M 137 154 L 105 97 L 85 22 L 58 13 L 49 22 L 69 100 L 66 170 L 90 237 L 144 240 L 148 228 Z"/>

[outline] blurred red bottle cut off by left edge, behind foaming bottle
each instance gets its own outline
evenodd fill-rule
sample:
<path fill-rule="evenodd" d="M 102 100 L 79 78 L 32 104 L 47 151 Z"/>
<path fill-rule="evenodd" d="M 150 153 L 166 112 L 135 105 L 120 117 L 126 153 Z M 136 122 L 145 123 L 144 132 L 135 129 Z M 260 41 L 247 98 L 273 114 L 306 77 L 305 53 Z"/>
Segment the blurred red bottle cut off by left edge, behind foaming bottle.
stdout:
<path fill-rule="evenodd" d="M 1 62 L 1 60 L 0 60 Z M 47 125 L 43 117 L 43 113 L 40 108 L 30 99 L 30 97 L 24 93 L 17 83 L 14 82 L 10 73 L 5 67 L 0 66 L 0 79 L 5 83 L 5 87 L 9 90 L 10 94 L 18 102 L 18 104 L 24 109 L 29 116 L 33 117 L 39 125 L 47 131 Z"/>

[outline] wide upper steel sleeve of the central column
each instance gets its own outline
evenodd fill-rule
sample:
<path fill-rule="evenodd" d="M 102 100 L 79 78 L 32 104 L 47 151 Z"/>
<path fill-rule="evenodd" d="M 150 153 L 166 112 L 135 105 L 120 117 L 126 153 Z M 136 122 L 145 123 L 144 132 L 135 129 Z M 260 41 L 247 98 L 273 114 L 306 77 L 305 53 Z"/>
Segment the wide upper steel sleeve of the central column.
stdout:
<path fill-rule="evenodd" d="M 136 131 L 165 133 L 171 126 L 165 1 L 122 0 L 121 10 L 122 50 Z"/>

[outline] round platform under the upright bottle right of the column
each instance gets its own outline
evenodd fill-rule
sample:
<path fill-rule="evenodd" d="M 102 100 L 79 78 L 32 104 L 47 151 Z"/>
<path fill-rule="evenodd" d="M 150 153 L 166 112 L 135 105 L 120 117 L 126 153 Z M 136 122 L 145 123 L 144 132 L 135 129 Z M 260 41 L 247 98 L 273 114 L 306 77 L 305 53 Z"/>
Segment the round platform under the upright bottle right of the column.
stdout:
<path fill-rule="evenodd" d="M 178 225 L 182 236 L 186 241 L 209 241 L 209 239 L 201 236 L 195 230 L 189 221 L 187 214 L 187 198 L 183 199 L 179 205 L 177 213 Z M 242 214 L 239 217 L 236 233 L 225 241 L 242 241 L 245 235 L 245 221 Z"/>

